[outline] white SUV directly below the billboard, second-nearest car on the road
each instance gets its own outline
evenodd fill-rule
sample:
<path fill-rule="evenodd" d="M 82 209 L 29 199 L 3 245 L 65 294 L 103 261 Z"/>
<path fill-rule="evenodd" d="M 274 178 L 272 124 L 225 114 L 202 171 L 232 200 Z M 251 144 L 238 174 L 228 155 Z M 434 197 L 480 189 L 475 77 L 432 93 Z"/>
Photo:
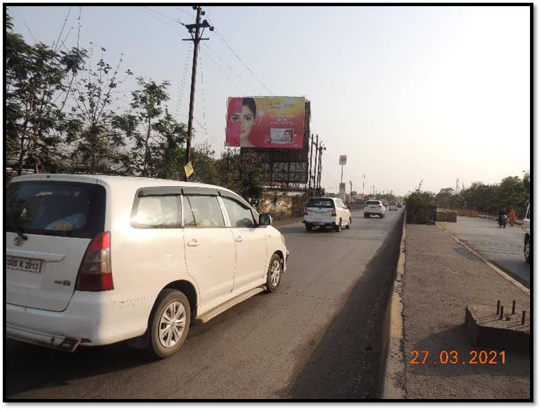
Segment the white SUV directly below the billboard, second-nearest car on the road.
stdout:
<path fill-rule="evenodd" d="M 351 212 L 342 199 L 321 197 L 310 198 L 306 204 L 305 218 L 302 220 L 306 230 L 311 231 L 313 227 L 333 227 L 340 232 L 342 227 L 351 227 Z"/>

